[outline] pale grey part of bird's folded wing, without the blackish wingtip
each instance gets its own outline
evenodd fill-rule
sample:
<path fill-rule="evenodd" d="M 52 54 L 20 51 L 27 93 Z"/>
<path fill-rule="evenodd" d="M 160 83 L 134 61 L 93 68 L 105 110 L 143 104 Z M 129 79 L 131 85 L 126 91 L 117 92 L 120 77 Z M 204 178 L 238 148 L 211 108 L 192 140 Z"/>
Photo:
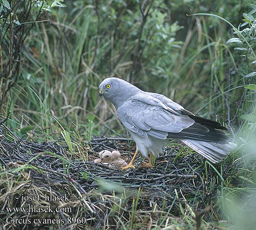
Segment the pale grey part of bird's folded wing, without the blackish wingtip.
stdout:
<path fill-rule="evenodd" d="M 141 137 L 166 139 L 169 132 L 181 132 L 195 123 L 154 97 L 133 97 L 119 106 L 117 114 L 129 131 Z"/>

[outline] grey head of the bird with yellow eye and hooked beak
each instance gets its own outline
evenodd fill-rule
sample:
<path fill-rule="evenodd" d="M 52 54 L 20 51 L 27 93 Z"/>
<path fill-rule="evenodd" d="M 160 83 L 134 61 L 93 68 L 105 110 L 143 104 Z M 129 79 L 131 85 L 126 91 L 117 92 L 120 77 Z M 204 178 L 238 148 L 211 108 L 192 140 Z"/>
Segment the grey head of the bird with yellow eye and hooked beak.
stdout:
<path fill-rule="evenodd" d="M 116 108 L 138 91 L 136 86 L 116 77 L 104 79 L 99 86 L 100 97 L 109 100 Z"/>

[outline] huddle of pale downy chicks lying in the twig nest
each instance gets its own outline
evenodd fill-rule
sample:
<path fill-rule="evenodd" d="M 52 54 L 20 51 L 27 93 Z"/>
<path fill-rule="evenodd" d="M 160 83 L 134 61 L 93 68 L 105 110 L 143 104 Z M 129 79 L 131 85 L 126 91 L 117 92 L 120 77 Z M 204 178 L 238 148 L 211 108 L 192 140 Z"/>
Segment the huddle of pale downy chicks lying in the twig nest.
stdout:
<path fill-rule="evenodd" d="M 120 158 L 121 154 L 119 151 L 108 151 L 103 150 L 99 153 L 100 158 L 95 159 L 94 163 L 103 163 L 103 164 L 111 164 L 116 167 L 125 167 L 128 164 L 122 158 Z"/>

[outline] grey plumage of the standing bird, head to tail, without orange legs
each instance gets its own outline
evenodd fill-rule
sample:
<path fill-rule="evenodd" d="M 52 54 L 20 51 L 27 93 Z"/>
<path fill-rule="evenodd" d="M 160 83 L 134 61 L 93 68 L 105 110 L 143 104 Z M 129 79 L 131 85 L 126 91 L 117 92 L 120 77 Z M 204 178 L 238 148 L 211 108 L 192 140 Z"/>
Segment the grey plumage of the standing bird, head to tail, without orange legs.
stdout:
<path fill-rule="evenodd" d="M 106 78 L 99 89 L 144 156 L 148 150 L 158 156 L 167 138 L 179 138 L 214 163 L 235 148 L 220 123 L 195 116 L 164 95 L 144 92 L 119 78 Z"/>

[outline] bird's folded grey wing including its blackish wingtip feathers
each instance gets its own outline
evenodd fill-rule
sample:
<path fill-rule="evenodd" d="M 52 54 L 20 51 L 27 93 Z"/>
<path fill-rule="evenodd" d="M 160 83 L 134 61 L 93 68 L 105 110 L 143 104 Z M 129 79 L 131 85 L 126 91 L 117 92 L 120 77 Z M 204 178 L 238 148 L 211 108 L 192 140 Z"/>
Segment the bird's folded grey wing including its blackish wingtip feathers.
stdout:
<path fill-rule="evenodd" d="M 200 117 L 196 117 L 181 105 L 169 98 L 170 101 L 163 100 L 152 94 L 138 94 L 117 109 L 119 119 L 130 132 L 141 137 L 149 135 L 159 139 L 190 138 L 214 142 L 226 142 L 228 139 L 224 132 L 215 129 L 221 127 L 218 122 L 202 119 L 204 123 L 200 124 Z"/>

